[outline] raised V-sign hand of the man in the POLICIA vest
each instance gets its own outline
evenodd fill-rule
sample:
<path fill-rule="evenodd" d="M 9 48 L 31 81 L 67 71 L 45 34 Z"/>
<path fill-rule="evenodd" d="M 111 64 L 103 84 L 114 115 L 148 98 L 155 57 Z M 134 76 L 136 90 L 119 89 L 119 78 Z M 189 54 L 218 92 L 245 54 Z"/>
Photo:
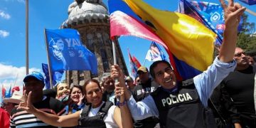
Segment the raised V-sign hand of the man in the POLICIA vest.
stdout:
<path fill-rule="evenodd" d="M 224 0 L 220 0 L 221 5 L 223 6 L 224 16 L 225 16 L 225 26 L 226 28 L 238 28 L 240 18 L 245 12 L 245 7 L 242 7 L 240 4 L 235 3 L 234 0 L 228 1 L 228 6 L 225 4 Z"/>

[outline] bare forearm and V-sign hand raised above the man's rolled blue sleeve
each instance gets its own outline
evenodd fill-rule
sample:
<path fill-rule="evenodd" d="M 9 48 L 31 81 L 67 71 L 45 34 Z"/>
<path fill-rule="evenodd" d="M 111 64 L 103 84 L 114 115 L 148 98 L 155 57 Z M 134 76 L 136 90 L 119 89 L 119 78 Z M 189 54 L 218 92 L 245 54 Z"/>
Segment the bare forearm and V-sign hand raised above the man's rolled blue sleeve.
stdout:
<path fill-rule="evenodd" d="M 245 7 L 240 6 L 238 3 L 234 4 L 234 0 L 229 0 L 228 6 L 225 4 L 224 0 L 220 0 L 220 3 L 224 10 L 225 30 L 218 58 L 223 63 L 230 63 L 233 61 L 238 38 L 238 24 L 240 17 L 245 11 Z"/>

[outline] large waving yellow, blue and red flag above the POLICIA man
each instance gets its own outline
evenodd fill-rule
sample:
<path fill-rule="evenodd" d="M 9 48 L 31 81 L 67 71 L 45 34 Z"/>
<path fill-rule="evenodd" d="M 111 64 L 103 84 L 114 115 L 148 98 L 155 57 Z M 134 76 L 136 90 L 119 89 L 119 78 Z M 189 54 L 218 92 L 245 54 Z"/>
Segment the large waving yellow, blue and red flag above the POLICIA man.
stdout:
<path fill-rule="evenodd" d="M 213 62 L 216 34 L 196 19 L 142 0 L 109 0 L 109 7 L 111 38 L 138 36 L 161 44 L 178 80 L 193 78 Z"/>

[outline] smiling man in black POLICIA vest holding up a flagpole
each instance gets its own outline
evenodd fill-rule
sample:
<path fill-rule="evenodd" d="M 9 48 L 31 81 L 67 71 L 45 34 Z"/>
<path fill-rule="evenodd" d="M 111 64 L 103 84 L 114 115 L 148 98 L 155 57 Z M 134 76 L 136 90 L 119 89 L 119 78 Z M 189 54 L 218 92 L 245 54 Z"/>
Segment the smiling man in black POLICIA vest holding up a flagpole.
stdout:
<path fill-rule="evenodd" d="M 156 116 L 161 127 L 215 127 L 213 117 L 208 116 L 207 101 L 214 88 L 228 73 L 235 69 L 233 60 L 238 34 L 238 23 L 245 7 L 229 0 L 226 5 L 220 0 L 225 11 L 225 31 L 220 54 L 206 71 L 191 80 L 176 82 L 171 65 L 164 61 L 156 61 L 150 66 L 150 74 L 161 85 L 144 100 L 136 102 L 125 87 L 122 70 L 118 65 L 112 66 L 112 77 L 119 78 L 120 87 L 116 94 L 125 94 L 127 105 L 135 120 Z"/>

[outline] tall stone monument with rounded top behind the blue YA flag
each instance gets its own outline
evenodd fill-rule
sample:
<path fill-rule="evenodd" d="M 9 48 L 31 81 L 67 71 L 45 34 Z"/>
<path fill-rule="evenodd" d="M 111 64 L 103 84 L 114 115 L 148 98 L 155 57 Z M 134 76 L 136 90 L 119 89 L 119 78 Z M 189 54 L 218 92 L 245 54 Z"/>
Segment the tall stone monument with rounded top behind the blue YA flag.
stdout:
<path fill-rule="evenodd" d="M 74 28 L 79 31 L 83 45 L 97 57 L 97 75 L 90 71 L 66 71 L 69 85 L 82 85 L 90 78 L 100 78 L 110 72 L 114 63 L 112 41 L 110 40 L 110 21 L 107 6 L 102 0 L 75 0 L 68 6 L 68 19 L 62 28 Z M 127 67 L 119 44 L 116 44 L 117 64 L 128 75 Z"/>

